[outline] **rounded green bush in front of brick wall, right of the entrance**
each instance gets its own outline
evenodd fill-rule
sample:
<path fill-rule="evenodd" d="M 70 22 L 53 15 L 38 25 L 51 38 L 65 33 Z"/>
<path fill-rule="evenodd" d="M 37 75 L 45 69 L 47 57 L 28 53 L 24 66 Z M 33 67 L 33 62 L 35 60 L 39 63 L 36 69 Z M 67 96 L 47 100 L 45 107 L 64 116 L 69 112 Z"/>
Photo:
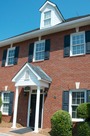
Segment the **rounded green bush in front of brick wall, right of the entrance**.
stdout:
<path fill-rule="evenodd" d="M 72 136 L 72 121 L 68 112 L 59 110 L 51 118 L 51 136 Z"/>

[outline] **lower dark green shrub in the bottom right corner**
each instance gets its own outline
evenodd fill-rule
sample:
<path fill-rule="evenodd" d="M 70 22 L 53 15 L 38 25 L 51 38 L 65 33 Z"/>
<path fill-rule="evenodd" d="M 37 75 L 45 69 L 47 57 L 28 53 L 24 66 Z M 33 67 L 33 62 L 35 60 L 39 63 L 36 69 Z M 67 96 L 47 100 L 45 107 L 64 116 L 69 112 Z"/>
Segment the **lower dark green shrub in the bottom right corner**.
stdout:
<path fill-rule="evenodd" d="M 77 130 L 78 136 L 90 136 L 90 122 L 80 122 Z"/>

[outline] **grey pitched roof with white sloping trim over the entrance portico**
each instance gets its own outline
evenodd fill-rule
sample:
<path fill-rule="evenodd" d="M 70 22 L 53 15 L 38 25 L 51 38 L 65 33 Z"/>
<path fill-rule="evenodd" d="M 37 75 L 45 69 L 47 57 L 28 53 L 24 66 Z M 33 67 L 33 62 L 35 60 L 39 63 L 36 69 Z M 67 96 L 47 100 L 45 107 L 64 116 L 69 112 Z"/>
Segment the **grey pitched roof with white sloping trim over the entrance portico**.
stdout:
<path fill-rule="evenodd" d="M 52 82 L 52 79 L 38 66 L 34 66 L 30 63 L 26 63 L 21 69 L 20 71 L 18 71 L 18 73 L 14 76 L 14 78 L 12 79 L 12 82 L 15 82 L 16 79 L 18 78 L 18 76 L 23 72 L 23 70 L 28 67 L 38 78 L 38 80 L 42 80 L 45 82 Z"/>

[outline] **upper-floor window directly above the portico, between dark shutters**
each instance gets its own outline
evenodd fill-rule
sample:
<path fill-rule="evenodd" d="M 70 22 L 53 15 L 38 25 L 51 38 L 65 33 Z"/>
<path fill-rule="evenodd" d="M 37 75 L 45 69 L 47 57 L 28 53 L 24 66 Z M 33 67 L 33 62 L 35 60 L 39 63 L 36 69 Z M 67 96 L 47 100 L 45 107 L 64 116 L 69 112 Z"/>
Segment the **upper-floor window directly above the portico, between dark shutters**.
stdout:
<path fill-rule="evenodd" d="M 34 61 L 44 60 L 45 57 L 45 41 L 35 43 Z"/>

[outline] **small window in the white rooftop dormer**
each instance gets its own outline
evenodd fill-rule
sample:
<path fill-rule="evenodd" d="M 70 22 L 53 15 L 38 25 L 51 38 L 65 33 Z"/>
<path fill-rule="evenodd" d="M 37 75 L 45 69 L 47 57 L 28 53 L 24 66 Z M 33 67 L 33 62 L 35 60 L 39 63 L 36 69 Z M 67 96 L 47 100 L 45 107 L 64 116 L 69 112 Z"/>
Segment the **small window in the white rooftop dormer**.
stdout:
<path fill-rule="evenodd" d="M 51 11 L 47 11 L 44 13 L 44 26 L 51 25 Z"/>

